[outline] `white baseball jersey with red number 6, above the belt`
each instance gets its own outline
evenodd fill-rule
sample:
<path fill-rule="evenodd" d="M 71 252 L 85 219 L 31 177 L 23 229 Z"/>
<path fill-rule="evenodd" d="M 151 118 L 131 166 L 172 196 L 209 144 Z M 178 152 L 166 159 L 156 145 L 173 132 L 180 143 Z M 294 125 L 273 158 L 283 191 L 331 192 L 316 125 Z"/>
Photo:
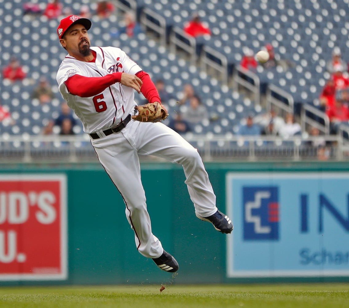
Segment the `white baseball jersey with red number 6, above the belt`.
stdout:
<path fill-rule="evenodd" d="M 92 133 L 110 128 L 132 113 L 134 90 L 114 83 L 103 92 L 92 97 L 80 97 L 68 92 L 65 81 L 75 74 L 85 77 L 101 77 L 114 72 L 134 75 L 141 71 L 124 51 L 116 47 L 91 47 L 96 51 L 95 62 L 83 62 L 67 55 L 59 66 L 57 82 L 62 97 L 81 120 L 84 132 Z"/>

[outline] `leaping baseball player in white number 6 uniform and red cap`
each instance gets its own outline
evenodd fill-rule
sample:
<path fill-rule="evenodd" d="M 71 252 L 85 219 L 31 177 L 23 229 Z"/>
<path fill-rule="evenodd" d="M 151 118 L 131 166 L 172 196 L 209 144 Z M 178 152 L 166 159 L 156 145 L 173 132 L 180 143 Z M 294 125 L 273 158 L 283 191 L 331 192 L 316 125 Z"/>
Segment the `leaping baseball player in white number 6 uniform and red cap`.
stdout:
<path fill-rule="evenodd" d="M 216 207 L 216 196 L 198 151 L 161 122 L 132 120 L 134 90 L 149 103 L 161 105 L 154 83 L 121 49 L 91 47 L 90 27 L 90 20 L 75 15 L 60 21 L 57 34 L 68 55 L 57 72 L 59 91 L 81 120 L 98 160 L 124 199 L 137 250 L 164 271 L 176 272 L 176 259 L 151 231 L 140 155 L 182 165 L 196 216 L 222 233 L 230 233 L 233 225 Z"/>

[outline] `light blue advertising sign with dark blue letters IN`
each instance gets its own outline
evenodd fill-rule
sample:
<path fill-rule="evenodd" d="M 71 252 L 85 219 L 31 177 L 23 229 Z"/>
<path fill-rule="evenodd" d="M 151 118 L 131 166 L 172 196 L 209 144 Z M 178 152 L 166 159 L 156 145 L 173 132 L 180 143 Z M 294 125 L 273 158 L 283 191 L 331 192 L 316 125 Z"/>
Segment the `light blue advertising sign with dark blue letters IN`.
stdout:
<path fill-rule="evenodd" d="M 228 277 L 349 276 L 349 173 L 228 173 Z"/>

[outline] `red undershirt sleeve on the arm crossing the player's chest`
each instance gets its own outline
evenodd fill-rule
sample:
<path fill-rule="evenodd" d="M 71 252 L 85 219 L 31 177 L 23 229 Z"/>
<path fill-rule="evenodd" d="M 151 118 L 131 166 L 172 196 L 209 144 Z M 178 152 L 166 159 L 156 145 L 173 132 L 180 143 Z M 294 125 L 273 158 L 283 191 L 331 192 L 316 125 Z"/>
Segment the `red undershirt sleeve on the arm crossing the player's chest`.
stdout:
<path fill-rule="evenodd" d="M 122 72 L 108 74 L 103 77 L 85 77 L 74 75 L 64 83 L 70 94 L 80 97 L 90 97 L 104 91 L 110 85 L 120 82 Z"/>

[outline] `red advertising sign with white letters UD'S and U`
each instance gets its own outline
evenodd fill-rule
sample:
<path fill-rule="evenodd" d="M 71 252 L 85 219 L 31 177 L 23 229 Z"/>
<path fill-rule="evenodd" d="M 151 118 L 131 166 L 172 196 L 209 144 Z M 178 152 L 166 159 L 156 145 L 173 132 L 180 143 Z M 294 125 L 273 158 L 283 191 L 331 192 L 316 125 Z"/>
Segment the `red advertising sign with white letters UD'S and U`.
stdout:
<path fill-rule="evenodd" d="M 65 175 L 0 175 L 0 280 L 67 278 Z"/>

